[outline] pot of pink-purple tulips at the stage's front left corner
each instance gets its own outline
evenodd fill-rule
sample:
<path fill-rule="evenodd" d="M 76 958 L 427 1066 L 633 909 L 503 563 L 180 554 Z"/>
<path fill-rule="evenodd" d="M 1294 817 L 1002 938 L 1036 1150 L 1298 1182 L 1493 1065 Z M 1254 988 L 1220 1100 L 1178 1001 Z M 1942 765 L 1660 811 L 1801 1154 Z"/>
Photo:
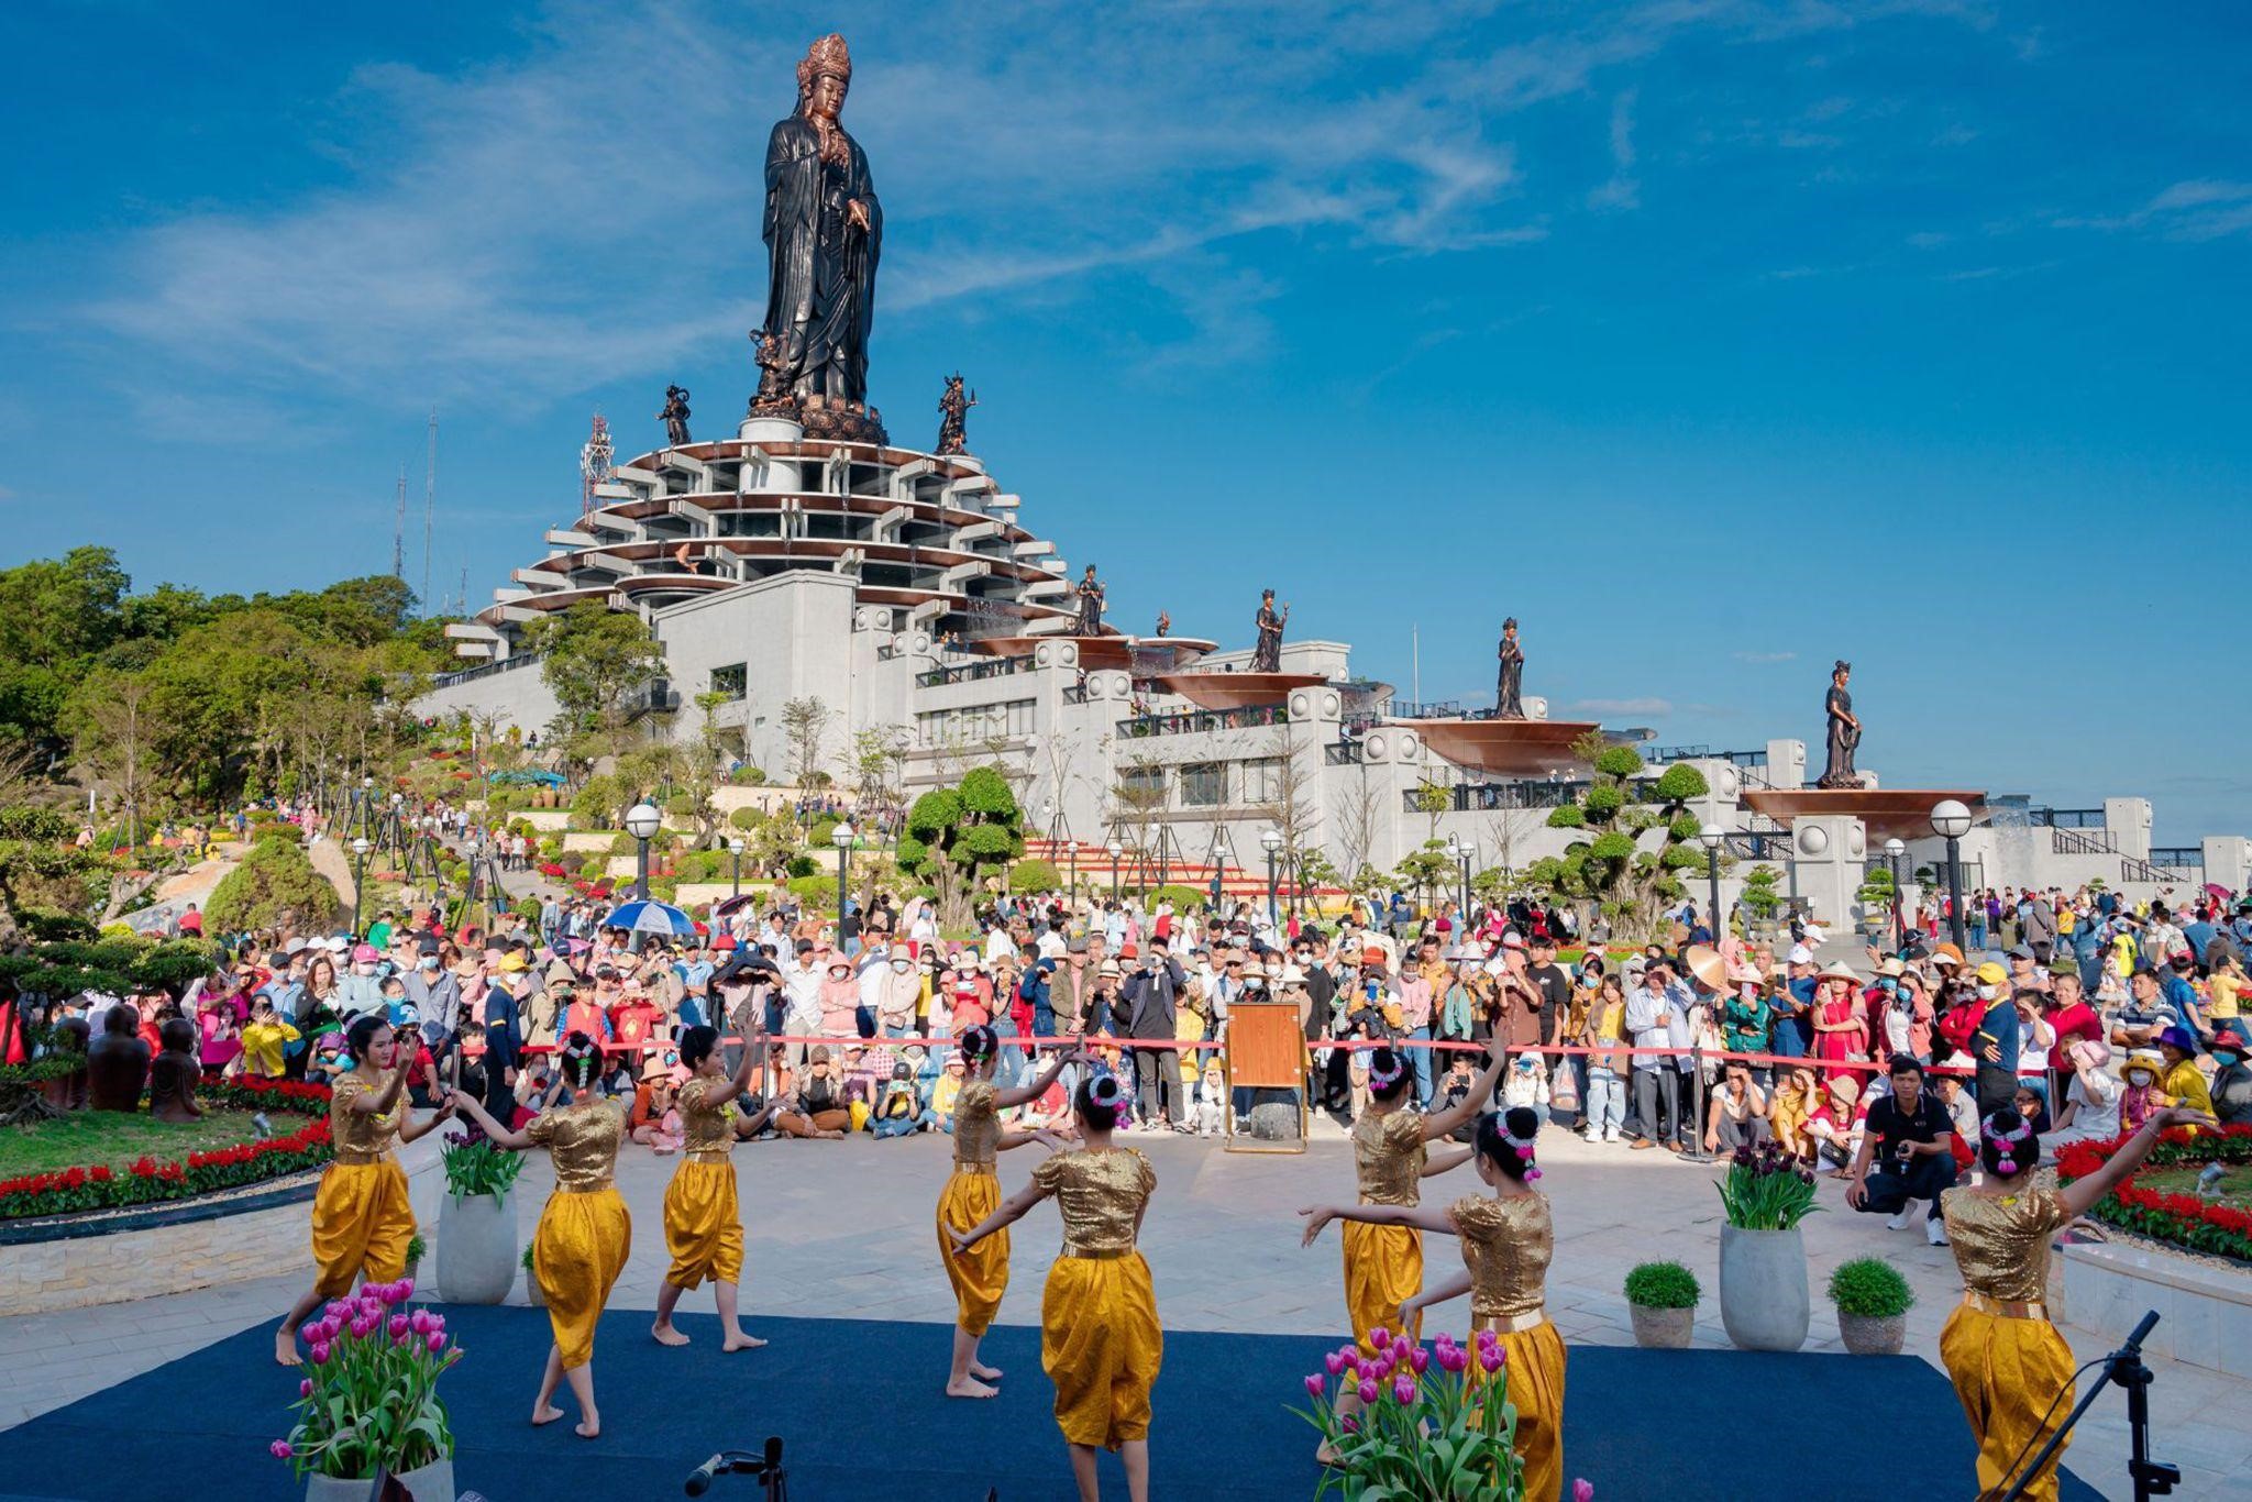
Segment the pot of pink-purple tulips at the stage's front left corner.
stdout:
<path fill-rule="evenodd" d="M 414 1284 L 365 1284 L 304 1324 L 309 1347 L 288 1439 L 268 1446 L 306 1502 L 365 1502 L 383 1470 L 414 1502 L 453 1502 L 453 1423 L 437 1378 L 462 1347 L 446 1315 L 408 1311 Z"/>

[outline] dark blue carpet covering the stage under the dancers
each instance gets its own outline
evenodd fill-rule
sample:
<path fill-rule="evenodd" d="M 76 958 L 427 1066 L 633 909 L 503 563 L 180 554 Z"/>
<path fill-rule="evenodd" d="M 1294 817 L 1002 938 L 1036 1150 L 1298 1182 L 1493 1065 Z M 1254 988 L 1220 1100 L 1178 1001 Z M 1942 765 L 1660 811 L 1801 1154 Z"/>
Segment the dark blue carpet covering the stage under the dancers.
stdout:
<path fill-rule="evenodd" d="M 1040 1374 L 1040 1333 L 995 1326 L 984 1356 L 1009 1376 L 991 1403 L 941 1396 L 948 1329 L 863 1320 L 750 1320 L 772 1344 L 723 1356 L 712 1315 L 669 1351 L 649 1315 L 610 1313 L 595 1347 L 604 1434 L 577 1414 L 525 1416 L 547 1349 L 529 1308 L 448 1308 L 468 1358 L 446 1380 L 462 1452 L 455 1479 L 491 1502 L 678 1497 L 721 1448 L 781 1434 L 793 1502 L 1070 1502 L 1063 1441 Z M 1155 1392 L 1153 1497 L 1306 1502 L 1320 1482 L 1313 1430 L 1286 1403 L 1333 1342 L 1299 1335 L 1169 1333 Z M 295 1376 L 252 1329 L 0 1434 L 0 1497 L 144 1502 L 302 1497 L 284 1434 Z M 1876 1459 L 1883 1455 L 1883 1459 Z M 1565 1473 L 1601 1502 L 1824 1502 L 1968 1497 L 1970 1437 L 1946 1378 L 1921 1360 L 1750 1351 L 1572 1351 Z M 2094 1464 L 2115 1457 L 2083 1457 Z M 1103 1493 L 1126 1479 L 1103 1457 Z M 759 1495 L 725 1477 L 714 1502 Z M 2065 1497 L 2097 1493 L 2067 1477 Z"/>

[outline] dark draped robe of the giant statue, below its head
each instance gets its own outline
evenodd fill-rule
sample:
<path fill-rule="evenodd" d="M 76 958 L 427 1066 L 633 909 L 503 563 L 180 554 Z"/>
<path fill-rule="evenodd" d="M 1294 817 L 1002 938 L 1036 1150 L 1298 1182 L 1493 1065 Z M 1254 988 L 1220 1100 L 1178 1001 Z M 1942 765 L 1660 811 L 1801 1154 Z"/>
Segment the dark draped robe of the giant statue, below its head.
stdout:
<path fill-rule="evenodd" d="M 849 160 L 822 162 L 820 133 L 790 115 L 766 142 L 766 333 L 779 342 L 790 394 L 865 403 L 883 207 L 867 153 L 844 140 Z M 856 198 L 867 230 L 847 218 Z"/>

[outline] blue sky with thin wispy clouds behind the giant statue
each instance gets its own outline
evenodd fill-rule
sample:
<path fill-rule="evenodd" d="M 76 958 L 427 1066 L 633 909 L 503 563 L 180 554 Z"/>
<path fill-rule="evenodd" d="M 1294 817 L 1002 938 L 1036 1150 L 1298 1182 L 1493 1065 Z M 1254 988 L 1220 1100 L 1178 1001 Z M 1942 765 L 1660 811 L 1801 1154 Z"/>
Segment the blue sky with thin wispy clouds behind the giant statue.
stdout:
<path fill-rule="evenodd" d="M 331 14 L 336 11 L 336 14 Z M 318 20 L 315 20 L 318 16 Z M 601 410 L 732 428 L 759 155 L 842 29 L 874 396 L 939 378 L 1112 619 L 1257 585 L 1426 698 L 2252 831 L 2236 5 L 59 5 L 0 47 L 0 561 L 435 592 Z"/>

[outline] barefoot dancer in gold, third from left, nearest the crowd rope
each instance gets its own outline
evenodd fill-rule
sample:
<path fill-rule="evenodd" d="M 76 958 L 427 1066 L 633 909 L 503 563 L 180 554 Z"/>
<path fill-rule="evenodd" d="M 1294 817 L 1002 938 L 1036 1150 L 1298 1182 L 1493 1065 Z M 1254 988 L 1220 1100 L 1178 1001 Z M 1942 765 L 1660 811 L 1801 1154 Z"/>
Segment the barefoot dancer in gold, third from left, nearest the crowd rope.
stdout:
<path fill-rule="evenodd" d="M 736 1097 L 750 1088 L 750 1076 L 759 1067 L 761 1036 L 754 1018 L 743 1038 L 743 1063 L 727 1074 L 716 1027 L 698 1025 L 680 1034 L 680 1063 L 689 1070 L 689 1083 L 678 1097 L 685 1142 L 680 1169 L 664 1187 L 664 1248 L 673 1254 L 673 1266 L 658 1288 L 658 1320 L 649 1326 L 664 1347 L 689 1342 L 673 1329 L 673 1308 L 682 1293 L 705 1279 L 712 1279 L 712 1297 L 718 1302 L 721 1351 L 766 1344 L 743 1333 L 736 1311 L 736 1284 L 743 1279 L 743 1212 L 734 1191 L 732 1157 L 734 1139 L 757 1137 L 775 1115 L 775 1103 L 748 1121 L 734 1115 Z"/>

